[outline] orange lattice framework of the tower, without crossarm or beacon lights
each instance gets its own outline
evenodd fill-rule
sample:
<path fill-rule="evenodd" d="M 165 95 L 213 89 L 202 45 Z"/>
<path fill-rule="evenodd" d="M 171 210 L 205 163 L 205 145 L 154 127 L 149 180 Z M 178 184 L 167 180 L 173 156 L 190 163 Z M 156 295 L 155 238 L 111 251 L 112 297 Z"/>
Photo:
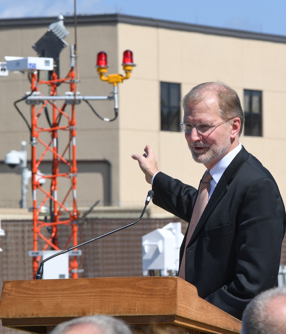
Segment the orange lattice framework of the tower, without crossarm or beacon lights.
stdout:
<path fill-rule="evenodd" d="M 37 79 L 37 71 L 34 71 L 31 74 L 31 89 L 33 94 L 34 92 L 38 92 L 39 85 L 48 85 L 50 87 L 50 96 L 56 96 L 56 88 L 61 83 L 68 83 L 70 86 L 70 92 L 75 93 L 75 72 L 73 67 L 69 71 L 68 75 L 63 79 L 58 79 L 55 72 L 52 73 L 51 80 L 43 81 Z M 33 190 L 33 251 L 38 251 L 38 238 L 42 238 L 45 241 L 45 245 L 43 250 L 46 250 L 49 246 L 51 246 L 55 250 L 59 250 L 58 245 L 58 225 L 66 224 L 71 226 L 71 233 L 66 241 L 64 248 L 67 247 L 69 242 L 72 240 L 73 246 L 77 244 L 77 226 L 76 220 L 78 218 L 78 210 L 76 205 L 76 120 L 75 120 L 75 104 L 76 100 L 73 102 L 70 101 L 69 105 L 71 108 L 71 116 L 68 116 L 67 113 L 64 112 L 66 107 L 66 102 L 63 103 L 61 108 L 57 107 L 54 100 L 46 100 L 43 101 L 43 104 L 39 111 L 36 111 L 37 101 L 30 100 L 31 104 L 31 144 L 32 144 L 32 190 Z M 43 128 L 38 125 L 38 118 L 43 113 L 44 109 L 47 105 L 52 107 L 52 122 L 49 127 Z M 59 121 L 61 122 L 65 119 L 66 125 L 59 126 Z M 57 139 L 59 132 L 65 131 L 69 132 L 69 140 L 68 143 L 63 150 L 63 152 L 59 152 Z M 44 133 L 50 134 L 49 143 L 45 143 L 41 138 Z M 41 144 L 44 146 L 44 151 L 41 154 L 40 158 L 37 159 L 37 145 Z M 51 152 L 52 153 L 52 174 L 49 176 L 42 176 L 42 178 L 50 179 L 51 187 L 49 191 L 43 189 L 40 184 L 38 177 L 38 169 L 39 166 L 45 157 L 45 155 Z M 65 158 L 65 155 L 69 152 L 69 159 Z M 68 172 L 59 173 L 59 165 L 65 164 L 68 168 Z M 64 198 L 58 198 L 58 178 L 69 178 L 71 180 L 71 186 L 68 189 Z M 39 203 L 37 202 L 37 191 L 41 191 L 44 193 L 44 199 Z M 72 208 L 67 208 L 65 206 L 66 199 L 68 196 L 72 196 Z M 47 201 L 51 203 L 51 218 L 50 222 L 42 221 L 39 218 L 39 213 L 41 208 L 45 205 Z M 68 214 L 68 219 L 60 220 L 61 212 L 66 211 Z M 49 227 L 52 230 L 52 233 L 49 238 L 46 238 L 42 233 L 41 229 L 43 227 Z M 35 278 L 37 269 L 38 269 L 38 261 L 40 260 L 40 256 L 33 257 L 33 276 Z M 78 262 L 76 256 L 73 256 L 73 259 L 70 260 L 69 263 L 70 272 L 72 278 L 77 278 L 77 268 Z"/>

